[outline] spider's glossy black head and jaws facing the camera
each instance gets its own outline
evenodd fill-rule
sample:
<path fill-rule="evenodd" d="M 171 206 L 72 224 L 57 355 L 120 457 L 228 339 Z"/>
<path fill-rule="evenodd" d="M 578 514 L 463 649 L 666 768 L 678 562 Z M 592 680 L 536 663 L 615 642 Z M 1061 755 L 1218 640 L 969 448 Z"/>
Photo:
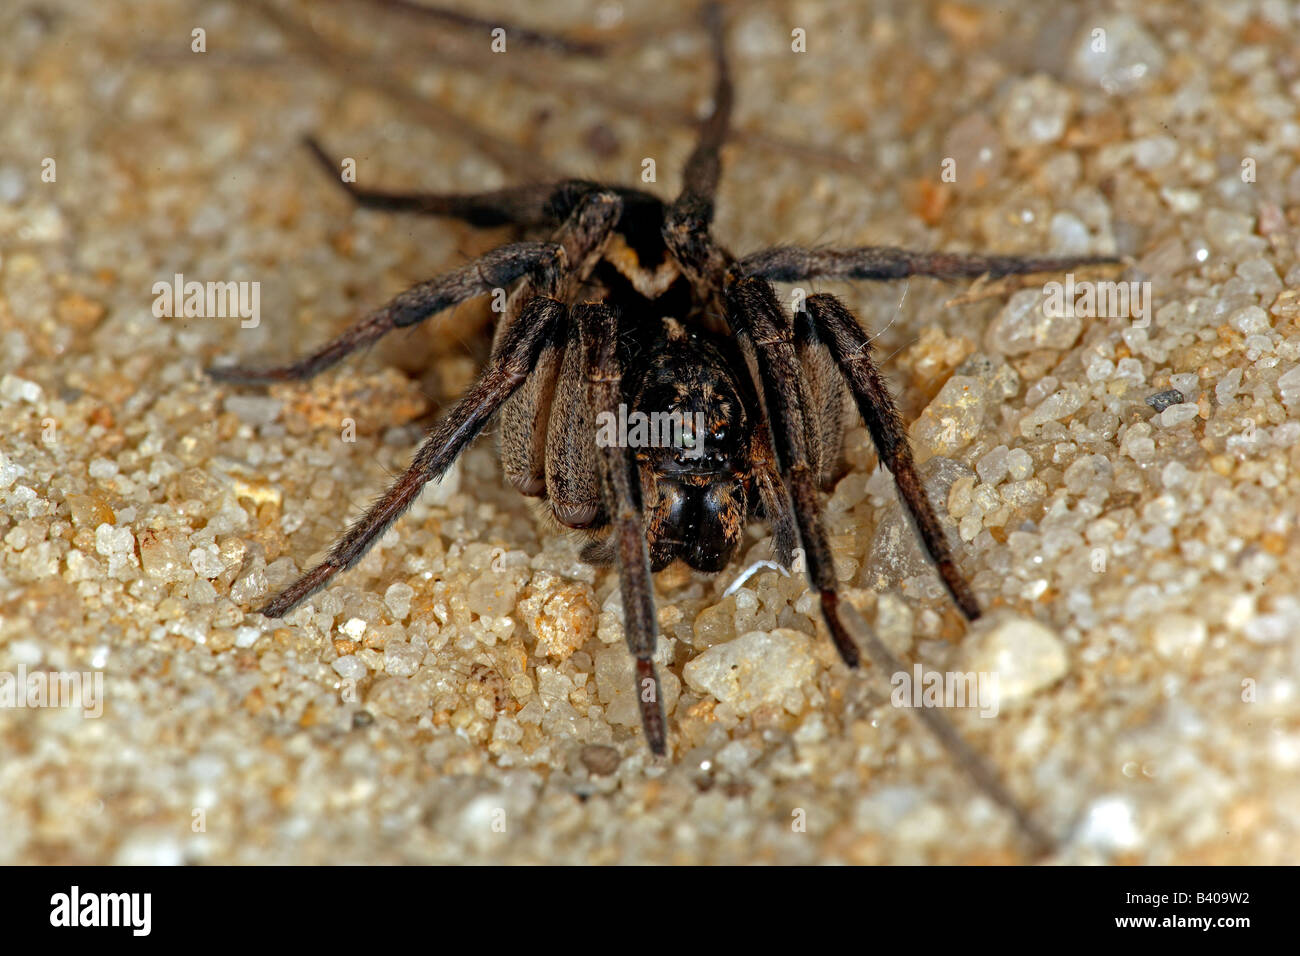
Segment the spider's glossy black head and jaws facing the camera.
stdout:
<path fill-rule="evenodd" d="M 681 558 L 720 571 L 740 544 L 748 516 L 749 414 L 723 354 L 666 320 L 630 407 L 660 424 L 637 451 L 646 503 L 646 541 L 655 570 Z"/>

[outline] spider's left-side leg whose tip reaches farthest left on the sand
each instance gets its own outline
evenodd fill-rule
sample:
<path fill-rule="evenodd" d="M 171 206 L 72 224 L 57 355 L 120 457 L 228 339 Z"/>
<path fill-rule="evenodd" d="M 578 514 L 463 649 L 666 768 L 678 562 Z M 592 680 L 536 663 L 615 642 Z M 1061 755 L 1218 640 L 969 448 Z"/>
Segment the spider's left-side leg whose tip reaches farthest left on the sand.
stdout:
<path fill-rule="evenodd" d="M 541 274 L 545 277 L 545 285 L 554 285 L 562 264 L 563 251 L 554 242 L 516 242 L 502 246 L 454 272 L 411 286 L 333 341 L 295 362 L 270 368 L 216 367 L 209 368 L 208 375 L 217 381 L 237 385 L 266 385 L 311 378 L 342 362 L 358 349 L 377 342 L 393 329 L 419 325 L 445 308 L 476 295 L 485 295 L 493 289 L 508 286 L 521 276 Z"/>

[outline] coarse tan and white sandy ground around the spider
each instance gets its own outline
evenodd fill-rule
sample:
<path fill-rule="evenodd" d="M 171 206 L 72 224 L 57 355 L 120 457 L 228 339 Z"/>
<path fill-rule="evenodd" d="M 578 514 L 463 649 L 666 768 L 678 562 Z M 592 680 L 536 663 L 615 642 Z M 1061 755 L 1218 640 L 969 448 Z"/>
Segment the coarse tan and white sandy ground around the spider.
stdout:
<path fill-rule="evenodd" d="M 508 238 L 356 211 L 299 138 L 374 186 L 637 182 L 649 159 L 668 196 L 710 83 L 692 4 L 528 4 L 612 38 L 595 60 L 313 7 L 352 55 L 238 3 L 0 10 L 0 861 L 1026 860 L 887 675 L 844 669 L 802 580 L 723 597 L 760 525 L 716 578 L 658 576 L 651 761 L 616 578 L 506 488 L 490 438 L 309 605 L 250 613 L 406 466 L 490 312 L 311 385 L 202 369 L 298 354 Z M 827 518 L 849 600 L 909 665 L 998 676 L 996 715 L 948 713 L 1050 860 L 1295 862 L 1300 7 L 731 21 L 734 251 L 1118 254 L 1075 280 L 1148 284 L 1074 317 L 1041 308 L 1063 277 L 809 286 L 880 332 L 992 613 L 953 610 L 862 428 Z M 257 282 L 256 324 L 157 317 L 177 273 Z M 49 674 L 82 696 L 21 706 Z"/>

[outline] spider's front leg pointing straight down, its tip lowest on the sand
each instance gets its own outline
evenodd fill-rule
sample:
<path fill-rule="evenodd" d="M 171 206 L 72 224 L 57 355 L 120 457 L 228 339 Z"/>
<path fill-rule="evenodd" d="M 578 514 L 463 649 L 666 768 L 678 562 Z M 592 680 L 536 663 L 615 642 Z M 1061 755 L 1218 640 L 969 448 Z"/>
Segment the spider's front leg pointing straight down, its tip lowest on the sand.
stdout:
<path fill-rule="evenodd" d="M 606 304 L 577 306 L 573 310 L 573 323 L 582 343 L 588 410 L 592 415 L 616 414 L 619 402 L 623 401 L 623 365 L 616 347 L 618 313 Z M 597 453 L 602 497 L 614 524 L 614 550 L 619 558 L 624 639 L 636 658 L 641 726 L 650 749 L 662 757 L 667 753 L 668 744 L 659 676 L 653 661 L 659 627 L 654 609 L 650 551 L 646 549 L 641 522 L 641 472 L 630 447 L 598 446 Z"/>

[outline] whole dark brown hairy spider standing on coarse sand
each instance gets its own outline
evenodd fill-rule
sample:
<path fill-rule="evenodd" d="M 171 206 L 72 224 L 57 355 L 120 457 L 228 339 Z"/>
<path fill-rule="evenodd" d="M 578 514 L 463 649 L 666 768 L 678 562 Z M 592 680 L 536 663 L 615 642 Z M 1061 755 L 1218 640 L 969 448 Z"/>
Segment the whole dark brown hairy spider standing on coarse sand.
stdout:
<path fill-rule="evenodd" d="M 697 571 L 723 570 L 751 518 L 770 523 L 783 567 L 802 548 L 831 639 L 845 665 L 858 665 L 844 619 L 861 618 L 840 604 L 820 498 L 838 458 L 848 393 L 952 600 L 967 619 L 980 615 L 857 317 L 827 294 L 807 297 L 786 315 L 772 282 L 1008 276 L 1114 260 L 790 246 L 737 259 L 711 232 L 733 87 L 718 7 L 705 8 L 705 23 L 716 75 L 712 109 L 671 202 L 585 179 L 474 194 L 342 183 L 367 208 L 508 224 L 545 238 L 502 246 L 415 285 L 290 364 L 209 369 L 239 385 L 306 380 L 393 329 L 514 286 L 477 381 L 384 497 L 261 614 L 283 617 L 355 564 L 495 418 L 506 479 L 586 536 L 584 559 L 618 564 L 645 739 L 664 754 L 651 574 L 677 559 Z M 339 181 L 333 159 L 316 140 L 308 147 Z M 668 446 L 598 442 L 598 416 L 620 405 L 705 427 Z M 870 633 L 866 640 L 880 646 Z"/>

